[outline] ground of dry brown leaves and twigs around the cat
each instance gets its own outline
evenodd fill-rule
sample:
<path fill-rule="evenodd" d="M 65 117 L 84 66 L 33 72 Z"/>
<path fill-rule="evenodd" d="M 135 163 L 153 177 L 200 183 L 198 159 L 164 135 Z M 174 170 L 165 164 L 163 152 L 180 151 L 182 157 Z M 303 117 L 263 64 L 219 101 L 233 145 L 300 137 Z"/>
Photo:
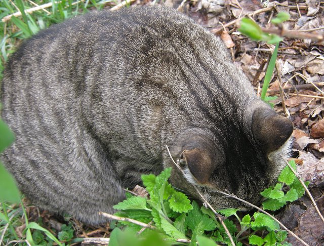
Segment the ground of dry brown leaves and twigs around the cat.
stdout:
<path fill-rule="evenodd" d="M 11 6 L 12 10 L 5 4 Z M 16 1 L 13 1 L 16 3 Z M 28 1 L 25 1 L 26 3 Z M 34 1 L 38 5 L 46 1 Z M 51 2 L 51 1 L 49 1 Z M 89 9 L 109 9 L 119 2 L 112 1 L 79 1 L 79 9 L 64 10 L 43 8 L 30 13 L 35 17 L 35 24 L 38 28 L 44 28 L 56 22 L 63 21 L 73 13 L 85 12 Z M 107 3 L 104 3 L 107 2 Z M 158 2 L 158 1 L 154 1 Z M 26 9 L 33 6 L 29 1 Z M 88 1 L 86 1 L 88 3 Z M 150 5 L 150 0 L 132 1 L 130 5 Z M 156 3 L 158 4 L 158 3 Z M 0 69 L 2 72 L 8 56 L 19 45 L 21 40 L 28 36 L 28 30 L 21 31 L 23 26 L 14 22 L 8 15 L 16 12 L 17 9 L 11 1 L 4 1 L 0 4 L 8 11 L 0 10 L 0 17 L 4 22 L 0 25 L 2 43 Z M 296 160 L 297 170 L 303 180 L 310 181 L 310 191 L 317 202 L 319 210 L 324 214 L 324 44 L 311 40 L 316 33 L 324 34 L 324 2 L 320 1 L 260 1 L 257 0 L 192 0 L 174 1 L 166 0 L 164 5 L 178 9 L 190 16 L 201 25 L 208 28 L 215 35 L 220 35 L 232 54 L 234 63 L 242 69 L 252 81 L 253 86 L 260 94 L 263 78 L 265 75 L 266 60 L 274 49 L 274 46 L 264 42 L 256 42 L 240 34 L 238 29 L 239 20 L 249 16 L 265 29 L 273 29 L 270 20 L 281 11 L 288 12 L 291 18 L 282 24 L 280 33 L 290 32 L 291 37 L 286 37 L 280 42 L 276 71 L 271 80 L 268 96 L 275 96 L 271 101 L 277 112 L 284 113 L 294 124 L 293 132 L 293 157 Z M 52 11 L 56 11 L 53 13 Z M 65 16 L 64 16 L 65 15 Z M 43 19 L 39 18 L 43 17 Z M 53 21 L 53 18 L 57 17 Z M 0 18 L 0 19 L 1 19 Z M 22 20 L 22 17 L 17 17 Z M 45 21 L 45 23 L 41 23 Z M 32 33 L 32 26 L 29 28 Z M 263 67 L 263 68 L 262 68 Z M 260 69 L 261 68 L 261 69 Z M 2 76 L 0 76 L 1 78 Z M 23 199 L 29 221 L 36 221 L 57 235 L 57 231 L 64 231 L 62 238 L 66 244 L 77 245 L 75 238 L 84 237 L 107 237 L 113 225 L 105 227 L 88 227 L 72 218 L 59 218 L 47 211 L 41 211 Z M 19 204 L 7 204 L 9 215 L 13 217 L 18 213 Z M 2 207 L 0 207 L 2 209 Z M 316 214 L 310 199 L 307 196 L 289 204 L 276 215 L 276 217 L 298 236 L 303 238 L 309 245 L 324 244 L 324 224 Z M 15 232 L 23 239 L 25 228 L 24 220 L 18 216 L 15 222 Z M 66 226 L 67 225 L 67 226 Z M 0 224 L 0 245 L 13 239 L 6 230 L 8 226 Z M 9 235 L 7 235 L 9 234 Z M 39 244 L 48 243 L 43 234 L 33 235 Z M 64 237 L 66 236 L 66 237 Z M 294 237 L 289 237 L 289 242 L 299 245 Z"/>

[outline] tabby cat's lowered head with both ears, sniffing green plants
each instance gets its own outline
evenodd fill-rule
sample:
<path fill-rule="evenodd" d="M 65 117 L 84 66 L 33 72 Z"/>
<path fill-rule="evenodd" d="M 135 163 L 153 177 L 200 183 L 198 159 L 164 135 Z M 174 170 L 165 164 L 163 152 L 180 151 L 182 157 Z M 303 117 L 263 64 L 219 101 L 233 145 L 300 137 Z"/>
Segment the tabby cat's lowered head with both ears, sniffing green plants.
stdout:
<path fill-rule="evenodd" d="M 246 207 L 216 190 L 260 203 L 260 192 L 272 185 L 285 167 L 281 155 L 288 155 L 293 125 L 267 107 L 253 109 L 249 122 L 249 126 L 224 127 L 226 132 L 221 133 L 203 128 L 184 130 L 170 148 L 183 170 L 173 166 L 171 183 L 199 199 L 195 185 L 215 208 Z"/>

